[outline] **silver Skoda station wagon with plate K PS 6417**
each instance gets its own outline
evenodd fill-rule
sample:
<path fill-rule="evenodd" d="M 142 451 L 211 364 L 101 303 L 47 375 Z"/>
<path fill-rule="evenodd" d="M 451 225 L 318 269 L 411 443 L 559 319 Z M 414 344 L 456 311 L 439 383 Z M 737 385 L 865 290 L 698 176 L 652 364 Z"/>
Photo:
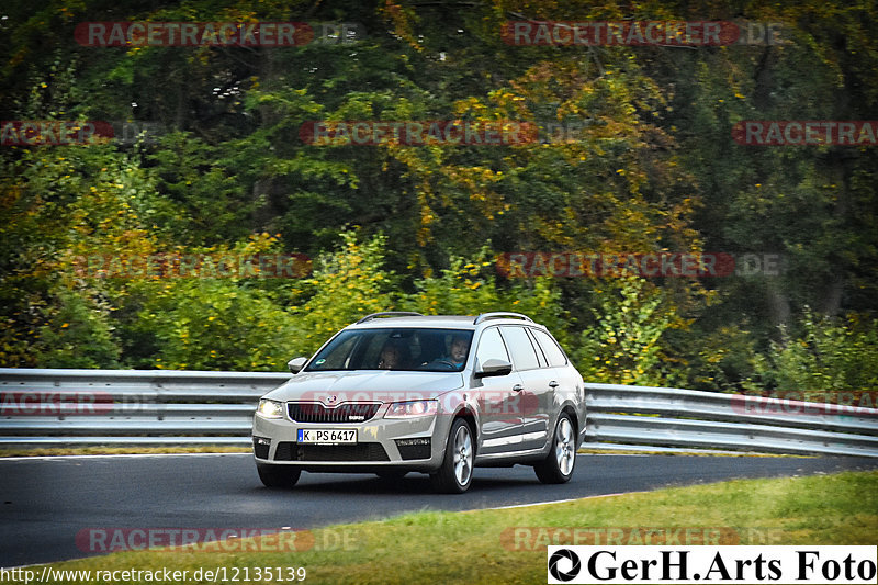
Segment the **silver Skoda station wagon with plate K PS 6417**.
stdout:
<path fill-rule="evenodd" d="M 302 471 L 427 473 L 463 493 L 473 468 L 532 465 L 573 475 L 585 439 L 583 379 L 552 335 L 518 313 L 375 313 L 338 331 L 254 415 L 269 487 Z"/>

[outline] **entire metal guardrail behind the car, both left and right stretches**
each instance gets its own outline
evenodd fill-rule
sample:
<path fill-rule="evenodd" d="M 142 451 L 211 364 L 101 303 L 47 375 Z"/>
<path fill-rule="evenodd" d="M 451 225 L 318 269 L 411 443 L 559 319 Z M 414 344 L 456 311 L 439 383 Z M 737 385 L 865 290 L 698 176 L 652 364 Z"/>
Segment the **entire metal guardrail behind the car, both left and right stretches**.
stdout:
<path fill-rule="evenodd" d="M 274 372 L 0 369 L 0 447 L 249 446 Z M 585 384 L 587 443 L 878 457 L 878 409 Z M 612 443 L 612 445 L 610 445 Z"/>

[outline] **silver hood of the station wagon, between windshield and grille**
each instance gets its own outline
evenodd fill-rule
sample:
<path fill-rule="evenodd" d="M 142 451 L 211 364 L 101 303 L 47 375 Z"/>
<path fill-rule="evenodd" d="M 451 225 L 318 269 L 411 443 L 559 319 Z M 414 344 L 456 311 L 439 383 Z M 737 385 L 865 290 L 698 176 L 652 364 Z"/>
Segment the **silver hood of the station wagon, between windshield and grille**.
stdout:
<path fill-rule="evenodd" d="M 349 372 L 300 372 L 264 397 L 275 401 L 338 403 L 356 401 L 395 402 L 435 398 L 463 387 L 460 372 L 394 372 L 357 370 Z"/>

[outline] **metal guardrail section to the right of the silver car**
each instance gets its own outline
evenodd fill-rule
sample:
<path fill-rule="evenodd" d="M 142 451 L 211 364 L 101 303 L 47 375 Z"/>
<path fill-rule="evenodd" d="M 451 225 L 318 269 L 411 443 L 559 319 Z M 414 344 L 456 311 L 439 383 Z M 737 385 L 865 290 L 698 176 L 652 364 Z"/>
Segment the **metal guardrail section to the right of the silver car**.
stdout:
<path fill-rule="evenodd" d="M 694 390 L 586 384 L 587 441 L 878 457 L 878 409 Z"/>

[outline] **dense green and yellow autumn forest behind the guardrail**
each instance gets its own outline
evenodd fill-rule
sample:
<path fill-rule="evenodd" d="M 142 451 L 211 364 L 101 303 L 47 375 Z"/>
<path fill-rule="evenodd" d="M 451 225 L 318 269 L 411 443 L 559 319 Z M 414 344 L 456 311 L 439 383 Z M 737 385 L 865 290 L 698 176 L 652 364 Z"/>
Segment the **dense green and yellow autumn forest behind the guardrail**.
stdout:
<path fill-rule="evenodd" d="M 589 22 L 739 34 L 564 42 Z M 878 120 L 871 0 L 34 0 L 0 30 L 2 367 L 279 371 L 371 312 L 508 310 L 588 381 L 878 390 L 875 138 L 741 137 Z M 552 252 L 738 263 L 510 270 Z"/>

